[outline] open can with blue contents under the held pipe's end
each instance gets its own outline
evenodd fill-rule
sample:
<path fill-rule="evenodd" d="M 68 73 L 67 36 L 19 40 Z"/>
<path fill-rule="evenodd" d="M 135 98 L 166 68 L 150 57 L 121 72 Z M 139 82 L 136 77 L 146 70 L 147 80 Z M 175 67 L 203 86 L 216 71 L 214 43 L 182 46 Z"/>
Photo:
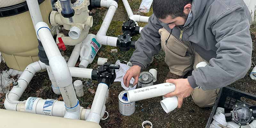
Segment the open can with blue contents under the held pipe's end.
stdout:
<path fill-rule="evenodd" d="M 119 112 L 124 116 L 130 116 L 135 112 L 135 102 L 128 102 L 127 91 L 118 95 Z"/>

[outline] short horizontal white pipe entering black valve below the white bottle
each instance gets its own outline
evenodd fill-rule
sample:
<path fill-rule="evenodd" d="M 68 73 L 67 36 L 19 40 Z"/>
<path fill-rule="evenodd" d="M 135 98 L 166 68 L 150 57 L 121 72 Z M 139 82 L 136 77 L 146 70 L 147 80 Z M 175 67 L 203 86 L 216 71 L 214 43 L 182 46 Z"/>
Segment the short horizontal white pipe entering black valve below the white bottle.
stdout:
<path fill-rule="evenodd" d="M 69 67 L 72 77 L 92 79 L 92 69 Z"/>

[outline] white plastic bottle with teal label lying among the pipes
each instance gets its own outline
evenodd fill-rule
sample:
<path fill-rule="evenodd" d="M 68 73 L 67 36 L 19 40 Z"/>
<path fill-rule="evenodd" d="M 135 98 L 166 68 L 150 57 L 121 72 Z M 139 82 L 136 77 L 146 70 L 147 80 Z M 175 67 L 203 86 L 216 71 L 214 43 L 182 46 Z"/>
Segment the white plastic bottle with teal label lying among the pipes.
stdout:
<path fill-rule="evenodd" d="M 100 47 L 101 44 L 96 41 L 96 35 L 88 34 L 81 45 L 79 67 L 87 68 L 92 63 Z"/>

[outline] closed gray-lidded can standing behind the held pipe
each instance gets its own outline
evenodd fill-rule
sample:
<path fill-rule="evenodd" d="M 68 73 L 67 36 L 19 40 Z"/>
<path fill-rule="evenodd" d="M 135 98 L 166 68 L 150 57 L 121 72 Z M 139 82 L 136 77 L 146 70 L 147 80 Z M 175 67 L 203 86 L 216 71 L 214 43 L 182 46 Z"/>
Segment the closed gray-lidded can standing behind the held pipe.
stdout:
<path fill-rule="evenodd" d="M 141 72 L 139 77 L 138 86 L 147 87 L 153 85 L 154 76 L 150 72 Z"/>

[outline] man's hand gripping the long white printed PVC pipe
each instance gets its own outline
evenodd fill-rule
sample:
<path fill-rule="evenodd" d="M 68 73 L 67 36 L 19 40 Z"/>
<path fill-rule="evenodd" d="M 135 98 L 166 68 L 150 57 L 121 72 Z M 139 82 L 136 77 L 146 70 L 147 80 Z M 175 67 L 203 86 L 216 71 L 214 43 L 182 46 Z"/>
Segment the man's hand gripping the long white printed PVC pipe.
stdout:
<path fill-rule="evenodd" d="M 188 97 L 192 92 L 193 88 L 188 83 L 188 79 L 168 79 L 166 80 L 168 83 L 175 84 L 174 92 L 168 93 L 164 95 L 164 97 L 178 97 L 178 108 L 181 107 L 183 98 Z"/>

